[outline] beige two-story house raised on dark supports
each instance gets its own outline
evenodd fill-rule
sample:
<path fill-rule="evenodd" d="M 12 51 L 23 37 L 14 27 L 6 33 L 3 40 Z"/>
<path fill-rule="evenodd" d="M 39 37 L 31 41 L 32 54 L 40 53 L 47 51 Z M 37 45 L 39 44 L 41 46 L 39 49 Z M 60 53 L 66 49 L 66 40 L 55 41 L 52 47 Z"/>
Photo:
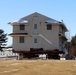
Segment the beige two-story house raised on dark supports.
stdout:
<path fill-rule="evenodd" d="M 20 55 L 31 49 L 66 50 L 67 28 L 63 22 L 35 12 L 9 24 L 13 27 L 9 34 L 13 37 L 13 50 Z"/>

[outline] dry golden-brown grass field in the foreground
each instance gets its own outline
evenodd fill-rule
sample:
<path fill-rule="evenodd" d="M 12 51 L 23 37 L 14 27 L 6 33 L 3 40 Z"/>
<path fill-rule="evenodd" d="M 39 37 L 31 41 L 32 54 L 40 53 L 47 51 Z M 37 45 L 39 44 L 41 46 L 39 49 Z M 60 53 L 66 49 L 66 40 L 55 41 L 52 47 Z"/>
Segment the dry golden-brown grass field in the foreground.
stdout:
<path fill-rule="evenodd" d="M 0 75 L 76 75 L 76 60 L 0 61 Z"/>

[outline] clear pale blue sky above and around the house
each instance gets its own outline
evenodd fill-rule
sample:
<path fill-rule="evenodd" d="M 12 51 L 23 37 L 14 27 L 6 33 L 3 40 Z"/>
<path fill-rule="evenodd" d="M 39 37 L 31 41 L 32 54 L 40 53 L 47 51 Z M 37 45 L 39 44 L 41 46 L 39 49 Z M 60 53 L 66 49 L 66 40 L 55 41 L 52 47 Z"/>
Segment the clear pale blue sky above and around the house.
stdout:
<path fill-rule="evenodd" d="M 63 20 L 70 32 L 76 34 L 76 0 L 0 0 L 0 29 L 12 32 L 8 22 L 39 12 L 58 21 Z M 69 35 L 69 34 L 68 34 Z M 8 45 L 12 38 L 8 36 Z"/>

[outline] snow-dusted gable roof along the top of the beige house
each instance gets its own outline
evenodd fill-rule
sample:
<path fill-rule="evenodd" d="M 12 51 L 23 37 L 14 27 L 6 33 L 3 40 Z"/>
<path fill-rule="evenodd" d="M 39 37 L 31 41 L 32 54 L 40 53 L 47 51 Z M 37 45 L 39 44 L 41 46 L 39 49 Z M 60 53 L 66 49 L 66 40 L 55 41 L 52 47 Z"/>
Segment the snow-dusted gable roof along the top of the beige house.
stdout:
<path fill-rule="evenodd" d="M 26 23 L 28 23 L 28 20 L 25 20 L 25 18 L 26 17 L 29 17 L 31 15 L 34 15 L 34 17 L 37 17 L 37 15 L 44 16 L 45 18 L 47 18 L 47 20 L 45 21 L 46 23 L 57 23 L 57 24 L 62 25 L 65 28 L 66 31 L 68 30 L 63 22 L 57 21 L 55 19 L 52 19 L 50 17 L 47 17 L 47 16 L 45 16 L 43 14 L 40 14 L 38 12 L 34 12 L 32 14 L 29 14 L 29 15 L 23 17 L 23 18 L 20 18 L 19 20 L 16 20 L 16 21 L 13 21 L 13 22 L 9 22 L 8 24 L 11 24 L 11 25 L 26 24 Z"/>

